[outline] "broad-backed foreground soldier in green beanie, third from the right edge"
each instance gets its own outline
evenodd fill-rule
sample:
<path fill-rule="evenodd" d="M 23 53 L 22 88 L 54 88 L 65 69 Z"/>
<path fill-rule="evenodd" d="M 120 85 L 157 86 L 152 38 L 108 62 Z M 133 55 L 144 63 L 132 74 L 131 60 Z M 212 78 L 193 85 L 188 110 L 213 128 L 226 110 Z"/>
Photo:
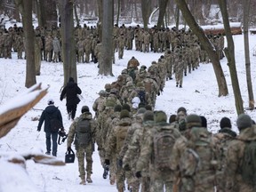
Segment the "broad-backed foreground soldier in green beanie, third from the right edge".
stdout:
<path fill-rule="evenodd" d="M 214 191 L 217 150 L 212 135 L 204 127 L 200 116 L 186 117 L 185 137 L 176 140 L 171 166 L 176 170 L 175 188 L 181 192 Z"/>

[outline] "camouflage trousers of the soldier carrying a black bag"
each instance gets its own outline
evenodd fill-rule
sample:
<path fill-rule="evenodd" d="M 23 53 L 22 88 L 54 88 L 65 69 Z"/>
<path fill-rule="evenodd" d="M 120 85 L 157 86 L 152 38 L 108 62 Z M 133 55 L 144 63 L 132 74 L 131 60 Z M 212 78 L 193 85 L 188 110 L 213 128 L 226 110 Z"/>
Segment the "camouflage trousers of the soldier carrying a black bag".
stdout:
<path fill-rule="evenodd" d="M 87 147 L 78 147 L 76 148 L 76 157 L 78 160 L 78 171 L 80 173 L 80 178 L 85 179 L 85 170 L 84 170 L 84 157 L 86 159 L 86 172 L 87 176 L 92 174 L 92 145 Z"/>

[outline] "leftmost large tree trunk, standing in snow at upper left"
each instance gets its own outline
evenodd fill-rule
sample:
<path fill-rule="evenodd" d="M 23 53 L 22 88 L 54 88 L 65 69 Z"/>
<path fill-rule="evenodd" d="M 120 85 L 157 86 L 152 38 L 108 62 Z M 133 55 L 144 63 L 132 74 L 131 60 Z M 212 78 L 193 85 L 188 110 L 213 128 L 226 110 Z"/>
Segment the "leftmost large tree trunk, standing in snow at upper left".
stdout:
<path fill-rule="evenodd" d="M 26 87 L 36 84 L 35 34 L 32 25 L 32 0 L 15 0 L 22 15 L 26 52 Z"/>

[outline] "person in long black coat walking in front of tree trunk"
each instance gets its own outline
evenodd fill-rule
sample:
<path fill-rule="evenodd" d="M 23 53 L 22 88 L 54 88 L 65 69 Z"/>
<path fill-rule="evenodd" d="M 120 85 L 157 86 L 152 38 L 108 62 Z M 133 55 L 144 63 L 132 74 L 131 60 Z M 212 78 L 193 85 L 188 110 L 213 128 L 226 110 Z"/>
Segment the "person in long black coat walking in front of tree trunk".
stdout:
<path fill-rule="evenodd" d="M 68 111 L 68 119 L 71 117 L 74 120 L 76 116 L 76 108 L 77 104 L 80 102 L 80 99 L 77 97 L 77 94 L 81 94 L 82 91 L 75 83 L 74 78 L 70 77 L 68 80 L 68 84 L 64 87 L 60 94 L 60 100 L 63 100 L 66 97 L 67 103 L 67 111 Z"/>

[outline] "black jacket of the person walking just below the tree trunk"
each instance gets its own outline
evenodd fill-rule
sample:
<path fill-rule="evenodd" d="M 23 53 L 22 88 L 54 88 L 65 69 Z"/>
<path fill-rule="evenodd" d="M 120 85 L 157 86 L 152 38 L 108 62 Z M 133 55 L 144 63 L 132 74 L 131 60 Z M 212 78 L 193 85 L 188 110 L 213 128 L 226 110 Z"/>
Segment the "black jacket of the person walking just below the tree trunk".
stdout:
<path fill-rule="evenodd" d="M 66 96 L 67 106 L 70 105 L 76 105 L 79 103 L 79 98 L 77 97 L 77 94 L 81 94 L 82 91 L 78 87 L 78 85 L 74 82 L 68 82 L 68 84 L 64 87 L 60 94 L 60 100 L 63 100 Z"/>

